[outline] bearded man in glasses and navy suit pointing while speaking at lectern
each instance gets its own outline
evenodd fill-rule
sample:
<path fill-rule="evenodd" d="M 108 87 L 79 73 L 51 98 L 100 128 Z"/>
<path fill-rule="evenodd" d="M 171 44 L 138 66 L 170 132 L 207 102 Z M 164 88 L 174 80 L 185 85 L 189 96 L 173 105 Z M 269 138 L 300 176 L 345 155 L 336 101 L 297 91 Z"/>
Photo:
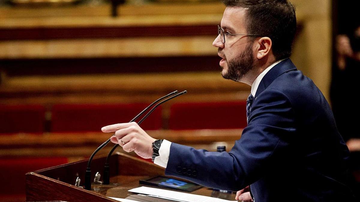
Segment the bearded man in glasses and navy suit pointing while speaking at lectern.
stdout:
<path fill-rule="evenodd" d="M 248 126 L 230 152 L 156 140 L 136 123 L 102 128 L 127 152 L 165 174 L 221 190 L 242 201 L 351 201 L 348 148 L 323 94 L 288 57 L 296 31 L 287 0 L 223 0 L 219 35 L 222 76 L 251 86 Z M 346 109 L 349 110 L 349 109 Z M 244 190 L 250 185 L 251 192 Z M 252 196 L 251 196 L 252 193 Z"/>

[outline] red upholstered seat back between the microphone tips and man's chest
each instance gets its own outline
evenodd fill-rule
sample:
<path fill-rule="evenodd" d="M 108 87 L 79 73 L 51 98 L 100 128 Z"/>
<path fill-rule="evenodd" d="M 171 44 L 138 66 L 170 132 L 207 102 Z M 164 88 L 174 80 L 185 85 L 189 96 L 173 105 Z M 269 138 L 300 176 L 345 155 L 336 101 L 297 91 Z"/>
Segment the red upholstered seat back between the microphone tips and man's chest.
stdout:
<path fill-rule="evenodd" d="M 169 129 L 245 128 L 246 101 L 178 103 L 171 106 Z"/>

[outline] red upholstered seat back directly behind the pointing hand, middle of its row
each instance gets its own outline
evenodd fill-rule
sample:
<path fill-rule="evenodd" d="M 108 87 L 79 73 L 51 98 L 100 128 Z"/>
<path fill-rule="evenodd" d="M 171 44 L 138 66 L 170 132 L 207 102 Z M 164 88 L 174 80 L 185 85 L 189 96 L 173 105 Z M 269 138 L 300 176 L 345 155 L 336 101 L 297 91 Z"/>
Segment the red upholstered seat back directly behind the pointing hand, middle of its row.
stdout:
<path fill-rule="evenodd" d="M 129 122 L 147 106 L 148 104 L 54 105 L 51 132 L 101 132 L 105 125 Z M 141 117 L 137 121 L 140 119 Z M 148 130 L 160 129 L 161 107 L 157 107 L 141 127 Z"/>

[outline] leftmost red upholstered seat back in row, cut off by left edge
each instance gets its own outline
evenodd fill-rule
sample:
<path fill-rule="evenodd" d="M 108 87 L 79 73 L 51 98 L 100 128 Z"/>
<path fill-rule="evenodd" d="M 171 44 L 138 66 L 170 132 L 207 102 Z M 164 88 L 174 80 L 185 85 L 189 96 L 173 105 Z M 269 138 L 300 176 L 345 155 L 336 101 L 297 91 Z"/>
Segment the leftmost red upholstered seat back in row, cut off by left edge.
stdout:
<path fill-rule="evenodd" d="M 44 106 L 0 105 L 0 133 L 42 133 L 44 121 Z"/>

